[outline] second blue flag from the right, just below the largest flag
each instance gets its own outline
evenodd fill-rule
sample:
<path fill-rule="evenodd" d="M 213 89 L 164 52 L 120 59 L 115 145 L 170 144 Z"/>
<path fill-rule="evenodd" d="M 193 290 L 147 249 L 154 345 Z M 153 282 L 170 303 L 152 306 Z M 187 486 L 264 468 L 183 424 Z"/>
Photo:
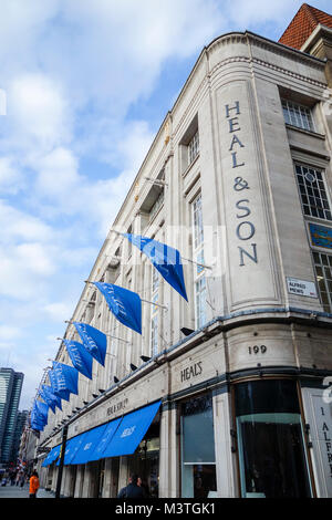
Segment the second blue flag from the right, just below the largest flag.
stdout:
<path fill-rule="evenodd" d="M 112 283 L 94 282 L 115 318 L 125 326 L 142 334 L 142 301 L 136 292 Z"/>

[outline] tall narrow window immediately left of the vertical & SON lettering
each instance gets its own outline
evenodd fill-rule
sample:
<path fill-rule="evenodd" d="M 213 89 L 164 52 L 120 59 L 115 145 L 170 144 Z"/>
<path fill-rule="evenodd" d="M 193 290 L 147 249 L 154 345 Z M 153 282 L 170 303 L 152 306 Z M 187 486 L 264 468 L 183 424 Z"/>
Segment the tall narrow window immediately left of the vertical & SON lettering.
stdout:
<path fill-rule="evenodd" d="M 196 329 L 206 322 L 206 278 L 204 270 L 204 227 L 201 212 L 201 195 L 191 204 L 193 211 L 193 258 L 196 262 L 194 272 L 195 287 L 195 324 Z"/>

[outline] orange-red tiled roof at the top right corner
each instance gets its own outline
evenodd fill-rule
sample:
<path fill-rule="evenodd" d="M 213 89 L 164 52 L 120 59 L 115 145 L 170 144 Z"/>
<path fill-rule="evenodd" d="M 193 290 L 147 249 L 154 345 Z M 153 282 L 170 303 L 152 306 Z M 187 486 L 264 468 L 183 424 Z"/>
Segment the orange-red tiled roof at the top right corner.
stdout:
<path fill-rule="evenodd" d="M 332 29 L 332 15 L 303 3 L 283 32 L 279 43 L 299 50 L 319 24 Z"/>

